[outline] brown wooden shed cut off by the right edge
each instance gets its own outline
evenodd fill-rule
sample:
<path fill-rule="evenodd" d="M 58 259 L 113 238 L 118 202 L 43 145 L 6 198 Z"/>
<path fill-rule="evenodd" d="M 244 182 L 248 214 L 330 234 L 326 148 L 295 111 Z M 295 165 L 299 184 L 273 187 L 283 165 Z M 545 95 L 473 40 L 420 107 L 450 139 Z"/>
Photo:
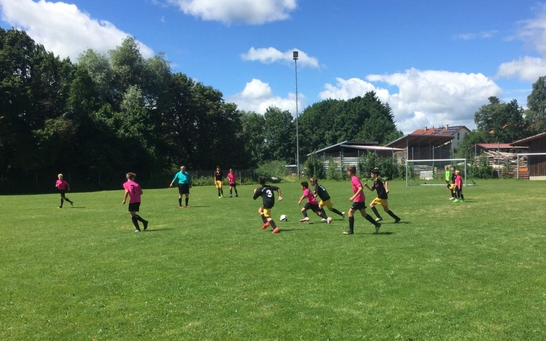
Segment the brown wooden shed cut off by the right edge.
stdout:
<path fill-rule="evenodd" d="M 546 180 L 546 132 L 510 143 L 514 147 L 529 147 L 527 169 L 529 180 Z"/>

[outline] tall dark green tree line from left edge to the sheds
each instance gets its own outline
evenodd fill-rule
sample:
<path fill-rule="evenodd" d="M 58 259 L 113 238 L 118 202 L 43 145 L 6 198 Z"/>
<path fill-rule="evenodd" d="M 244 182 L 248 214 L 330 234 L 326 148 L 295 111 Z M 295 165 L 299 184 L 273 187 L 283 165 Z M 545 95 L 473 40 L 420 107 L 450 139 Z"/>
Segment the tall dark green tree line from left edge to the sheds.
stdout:
<path fill-rule="evenodd" d="M 401 135 L 373 92 L 316 103 L 298 124 L 300 154 Z M 0 180 L 293 163 L 295 131 L 289 111 L 238 110 L 217 89 L 173 73 L 162 53 L 144 58 L 131 37 L 70 61 L 25 31 L 0 28 Z"/>

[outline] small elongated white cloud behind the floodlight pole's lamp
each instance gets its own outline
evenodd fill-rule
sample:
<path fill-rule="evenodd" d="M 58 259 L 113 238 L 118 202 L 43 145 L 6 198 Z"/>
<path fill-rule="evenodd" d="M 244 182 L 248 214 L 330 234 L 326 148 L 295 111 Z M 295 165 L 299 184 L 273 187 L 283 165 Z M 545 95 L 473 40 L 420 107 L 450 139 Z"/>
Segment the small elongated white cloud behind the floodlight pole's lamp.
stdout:
<path fill-rule="evenodd" d="M 241 55 L 241 58 L 244 61 L 258 61 L 260 63 L 264 64 L 271 64 L 275 62 L 282 62 L 282 63 L 294 63 L 293 59 L 293 52 L 298 51 L 298 65 L 301 67 L 309 67 L 318 69 L 318 59 L 315 57 L 310 57 L 307 55 L 307 53 L 300 51 L 298 49 L 292 49 L 288 51 L 281 52 L 274 47 L 267 47 L 267 48 L 261 48 L 261 49 L 254 49 L 254 47 L 251 47 L 248 52 L 243 53 Z"/>

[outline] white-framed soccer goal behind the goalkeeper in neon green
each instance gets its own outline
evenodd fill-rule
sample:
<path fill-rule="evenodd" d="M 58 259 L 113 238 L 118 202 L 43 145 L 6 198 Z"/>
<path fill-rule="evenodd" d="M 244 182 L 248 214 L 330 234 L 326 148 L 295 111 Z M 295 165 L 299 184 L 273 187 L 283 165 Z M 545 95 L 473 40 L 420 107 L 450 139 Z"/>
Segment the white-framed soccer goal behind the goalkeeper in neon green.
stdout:
<path fill-rule="evenodd" d="M 406 186 L 446 186 L 446 167 L 451 170 L 452 166 L 460 171 L 464 186 L 468 186 L 466 159 L 406 160 Z"/>

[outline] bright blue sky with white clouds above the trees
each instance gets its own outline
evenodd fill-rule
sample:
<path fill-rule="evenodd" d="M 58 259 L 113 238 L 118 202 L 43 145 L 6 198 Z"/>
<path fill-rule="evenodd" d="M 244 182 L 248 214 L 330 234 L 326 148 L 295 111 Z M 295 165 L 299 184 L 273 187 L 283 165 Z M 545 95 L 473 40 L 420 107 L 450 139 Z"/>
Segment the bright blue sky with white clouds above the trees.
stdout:
<path fill-rule="evenodd" d="M 243 110 L 295 115 L 327 98 L 375 91 L 397 127 L 464 124 L 497 96 L 526 106 L 546 75 L 546 3 L 527 0 L 0 0 L 0 26 L 77 61 L 127 35 L 145 57 Z"/>

